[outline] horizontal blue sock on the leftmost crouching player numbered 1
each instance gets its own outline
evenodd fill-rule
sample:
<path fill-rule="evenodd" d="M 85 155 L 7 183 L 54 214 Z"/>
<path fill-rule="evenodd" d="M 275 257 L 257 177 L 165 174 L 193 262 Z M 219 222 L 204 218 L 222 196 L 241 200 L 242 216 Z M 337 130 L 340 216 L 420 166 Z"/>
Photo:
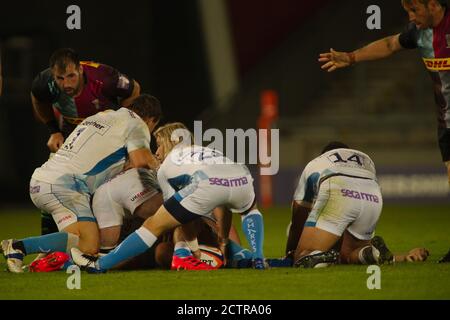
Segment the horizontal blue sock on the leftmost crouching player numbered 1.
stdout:
<path fill-rule="evenodd" d="M 20 241 L 23 243 L 26 254 L 66 252 L 67 238 L 66 232 L 55 232 L 45 236 L 25 238 Z"/>

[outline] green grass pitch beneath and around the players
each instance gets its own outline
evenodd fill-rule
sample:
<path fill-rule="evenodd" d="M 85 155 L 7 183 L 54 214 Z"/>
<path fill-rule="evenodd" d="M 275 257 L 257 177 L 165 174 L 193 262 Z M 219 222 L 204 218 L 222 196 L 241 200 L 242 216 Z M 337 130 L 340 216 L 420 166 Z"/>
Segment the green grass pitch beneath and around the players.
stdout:
<path fill-rule="evenodd" d="M 240 229 L 238 217 L 235 224 Z M 265 254 L 283 255 L 289 208 L 264 211 Z M 450 299 L 450 264 L 437 260 L 450 248 L 449 205 L 386 205 L 377 233 L 392 251 L 426 247 L 425 263 L 381 267 L 381 289 L 367 288 L 365 266 L 325 269 L 116 271 L 82 273 L 81 289 L 69 290 L 69 274 L 11 274 L 0 258 L 0 299 Z M 37 210 L 0 211 L 0 238 L 39 233 Z M 242 234 L 241 234 L 242 236 Z M 30 257 L 31 258 L 31 257 Z M 28 259 L 30 259 L 28 258 Z"/>

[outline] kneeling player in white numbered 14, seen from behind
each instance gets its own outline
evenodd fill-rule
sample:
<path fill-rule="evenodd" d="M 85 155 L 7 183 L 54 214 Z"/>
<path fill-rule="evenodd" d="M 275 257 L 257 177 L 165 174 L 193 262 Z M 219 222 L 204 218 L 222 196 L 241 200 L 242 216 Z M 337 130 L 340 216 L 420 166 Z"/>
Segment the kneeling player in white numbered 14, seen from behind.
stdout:
<path fill-rule="evenodd" d="M 371 243 L 382 205 L 370 157 L 339 142 L 327 145 L 305 167 L 295 191 L 287 243 L 287 251 L 295 250 L 295 266 L 337 262 L 337 252 L 330 249 L 341 237 L 341 263 L 392 259 L 390 252 L 380 256 Z"/>

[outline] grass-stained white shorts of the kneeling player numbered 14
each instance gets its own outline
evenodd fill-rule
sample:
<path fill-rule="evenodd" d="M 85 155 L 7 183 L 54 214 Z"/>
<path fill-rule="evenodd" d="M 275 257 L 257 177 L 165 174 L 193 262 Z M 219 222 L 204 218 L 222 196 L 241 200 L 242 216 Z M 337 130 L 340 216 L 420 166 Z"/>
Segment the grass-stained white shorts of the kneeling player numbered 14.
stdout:
<path fill-rule="evenodd" d="M 305 226 L 337 236 L 345 230 L 359 240 L 373 238 L 383 199 L 374 180 L 334 176 L 320 185 Z"/>

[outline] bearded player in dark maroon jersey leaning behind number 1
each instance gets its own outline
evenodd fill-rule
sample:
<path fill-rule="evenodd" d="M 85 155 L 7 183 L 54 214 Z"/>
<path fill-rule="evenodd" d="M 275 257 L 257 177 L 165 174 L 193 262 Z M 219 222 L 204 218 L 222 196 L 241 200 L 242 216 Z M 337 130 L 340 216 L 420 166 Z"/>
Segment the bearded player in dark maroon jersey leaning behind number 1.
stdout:
<path fill-rule="evenodd" d="M 31 101 L 35 116 L 50 131 L 47 146 L 56 152 L 82 120 L 106 109 L 128 107 L 139 94 L 135 80 L 104 64 L 80 62 L 73 49 L 62 48 L 34 79 Z M 51 215 L 43 213 L 41 229 L 42 234 L 58 231 Z"/>

